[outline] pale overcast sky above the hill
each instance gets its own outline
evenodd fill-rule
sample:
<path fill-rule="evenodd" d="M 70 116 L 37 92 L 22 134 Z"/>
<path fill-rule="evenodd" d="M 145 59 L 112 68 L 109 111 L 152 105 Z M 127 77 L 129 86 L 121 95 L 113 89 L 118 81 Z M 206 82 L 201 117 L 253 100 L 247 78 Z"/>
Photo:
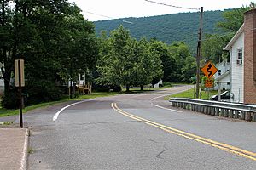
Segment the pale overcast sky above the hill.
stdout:
<path fill-rule="evenodd" d="M 201 8 L 204 10 L 223 10 L 239 8 L 254 0 L 152 0 L 185 8 Z M 83 10 L 84 18 L 90 21 L 109 20 L 126 17 L 144 17 L 160 14 L 196 12 L 183 8 L 172 8 L 164 5 L 148 3 L 145 0 L 69 0 Z M 101 16 L 102 15 L 102 16 Z"/>

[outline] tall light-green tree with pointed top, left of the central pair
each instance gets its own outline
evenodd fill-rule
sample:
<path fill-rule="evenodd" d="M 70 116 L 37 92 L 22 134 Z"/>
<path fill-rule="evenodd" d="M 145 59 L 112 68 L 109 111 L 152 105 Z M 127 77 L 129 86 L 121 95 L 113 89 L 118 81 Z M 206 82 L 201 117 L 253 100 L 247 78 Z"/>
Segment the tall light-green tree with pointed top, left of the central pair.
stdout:
<path fill-rule="evenodd" d="M 131 38 L 129 31 L 123 26 L 111 32 L 109 38 L 110 50 L 108 54 L 102 56 L 101 65 L 98 65 L 98 71 L 101 77 L 97 82 L 111 85 L 125 85 L 126 90 L 132 84 L 133 55 L 131 45 L 135 40 Z M 103 51 L 103 49 L 101 50 Z"/>

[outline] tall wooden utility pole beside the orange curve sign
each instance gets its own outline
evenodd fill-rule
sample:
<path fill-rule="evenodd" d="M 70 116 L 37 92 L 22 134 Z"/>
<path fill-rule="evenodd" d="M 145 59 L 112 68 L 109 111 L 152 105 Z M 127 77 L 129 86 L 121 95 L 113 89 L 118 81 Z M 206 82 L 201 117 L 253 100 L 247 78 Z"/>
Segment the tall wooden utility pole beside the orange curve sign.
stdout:
<path fill-rule="evenodd" d="M 200 28 L 198 33 L 197 53 L 196 53 L 196 91 L 195 97 L 199 99 L 199 83 L 200 83 L 200 60 L 201 60 L 201 37 L 202 37 L 202 20 L 203 20 L 203 7 L 201 7 L 200 13 Z"/>

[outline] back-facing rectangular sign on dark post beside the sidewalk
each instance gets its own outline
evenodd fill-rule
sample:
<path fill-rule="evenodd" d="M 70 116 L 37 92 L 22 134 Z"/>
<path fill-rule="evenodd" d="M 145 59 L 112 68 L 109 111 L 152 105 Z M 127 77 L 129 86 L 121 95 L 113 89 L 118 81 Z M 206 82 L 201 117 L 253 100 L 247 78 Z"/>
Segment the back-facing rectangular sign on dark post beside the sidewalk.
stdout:
<path fill-rule="evenodd" d="M 25 86 L 24 80 L 24 60 L 15 59 L 15 86 L 19 88 L 19 100 L 20 100 L 20 128 L 23 128 L 22 119 L 22 87 Z"/>

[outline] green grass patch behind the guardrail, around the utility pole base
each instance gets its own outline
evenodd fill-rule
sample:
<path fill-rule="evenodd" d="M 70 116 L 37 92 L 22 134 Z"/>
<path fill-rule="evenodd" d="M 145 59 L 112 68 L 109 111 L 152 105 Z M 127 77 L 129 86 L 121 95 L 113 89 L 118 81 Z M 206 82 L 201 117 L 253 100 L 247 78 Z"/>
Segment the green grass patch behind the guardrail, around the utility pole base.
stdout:
<path fill-rule="evenodd" d="M 187 91 L 184 91 L 182 93 L 179 94 L 172 94 L 171 96 L 167 96 L 165 99 L 169 100 L 169 98 L 191 98 L 191 99 L 195 99 L 195 89 L 191 88 Z M 210 91 L 209 92 L 209 98 L 212 95 L 218 94 L 218 91 Z M 201 91 L 201 99 L 208 99 L 208 92 L 207 91 Z"/>

